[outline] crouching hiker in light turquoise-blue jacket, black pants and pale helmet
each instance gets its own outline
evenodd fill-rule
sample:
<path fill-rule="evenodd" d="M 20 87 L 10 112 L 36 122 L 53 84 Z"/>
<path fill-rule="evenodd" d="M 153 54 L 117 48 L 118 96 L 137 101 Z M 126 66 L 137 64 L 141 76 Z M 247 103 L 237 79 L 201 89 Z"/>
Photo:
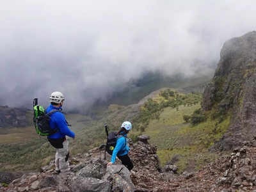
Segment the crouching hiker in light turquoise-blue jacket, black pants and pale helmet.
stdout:
<path fill-rule="evenodd" d="M 120 131 L 117 132 L 117 135 L 123 135 L 123 137 L 120 137 L 116 140 L 116 146 L 115 149 L 113 150 L 113 154 L 111 157 L 111 162 L 108 163 L 108 165 L 111 165 L 115 163 L 116 161 L 116 156 L 118 159 L 122 161 L 122 164 L 128 168 L 128 170 L 132 170 L 133 164 L 128 156 L 130 148 L 127 145 L 127 139 L 126 136 L 129 133 L 129 131 L 132 129 L 132 124 L 131 122 L 124 122 L 121 126 Z"/>

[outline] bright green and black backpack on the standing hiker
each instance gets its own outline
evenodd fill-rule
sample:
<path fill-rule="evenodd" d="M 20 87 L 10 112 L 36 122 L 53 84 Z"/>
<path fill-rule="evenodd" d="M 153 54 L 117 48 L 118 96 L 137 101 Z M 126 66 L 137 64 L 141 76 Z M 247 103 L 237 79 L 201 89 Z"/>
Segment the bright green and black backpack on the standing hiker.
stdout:
<path fill-rule="evenodd" d="M 34 106 L 34 118 L 33 122 L 36 128 L 36 132 L 40 136 L 49 136 L 58 132 L 58 129 L 51 129 L 50 120 L 52 113 L 55 113 L 60 110 L 52 110 L 49 113 L 45 113 L 43 106 L 36 105 Z"/>

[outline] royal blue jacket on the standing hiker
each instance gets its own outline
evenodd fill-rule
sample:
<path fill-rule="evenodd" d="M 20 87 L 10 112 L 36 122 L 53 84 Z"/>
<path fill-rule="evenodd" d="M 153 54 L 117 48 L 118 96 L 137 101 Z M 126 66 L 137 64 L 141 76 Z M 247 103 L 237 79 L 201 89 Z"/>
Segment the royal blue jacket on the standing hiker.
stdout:
<path fill-rule="evenodd" d="M 50 104 L 49 107 L 46 109 L 46 113 L 49 113 L 53 109 L 61 109 L 61 108 L 56 108 Z M 48 138 L 51 138 L 51 139 L 65 138 L 66 135 L 70 136 L 70 138 L 75 137 L 75 133 L 68 128 L 68 125 L 63 113 L 60 113 L 60 112 L 52 113 L 50 127 L 52 129 L 58 128 L 59 131 L 48 136 Z"/>

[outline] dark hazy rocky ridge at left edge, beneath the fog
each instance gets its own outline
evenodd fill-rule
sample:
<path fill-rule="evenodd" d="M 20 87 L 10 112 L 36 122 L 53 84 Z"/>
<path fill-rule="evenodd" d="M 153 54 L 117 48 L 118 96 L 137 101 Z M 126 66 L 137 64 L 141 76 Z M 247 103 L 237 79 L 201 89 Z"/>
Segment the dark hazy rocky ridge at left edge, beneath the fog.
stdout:
<path fill-rule="evenodd" d="M 0 129 L 6 127 L 25 127 L 29 124 L 26 119 L 27 112 L 28 109 L 0 106 Z"/>

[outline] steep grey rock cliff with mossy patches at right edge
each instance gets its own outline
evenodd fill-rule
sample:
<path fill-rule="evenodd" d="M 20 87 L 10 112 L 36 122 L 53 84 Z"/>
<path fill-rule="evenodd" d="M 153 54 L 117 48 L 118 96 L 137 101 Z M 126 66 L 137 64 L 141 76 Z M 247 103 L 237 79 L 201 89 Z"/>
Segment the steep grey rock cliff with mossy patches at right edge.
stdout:
<path fill-rule="evenodd" d="M 213 148 L 229 150 L 256 136 L 256 31 L 225 42 L 202 108 L 214 116 L 231 117 L 227 132 Z"/>

